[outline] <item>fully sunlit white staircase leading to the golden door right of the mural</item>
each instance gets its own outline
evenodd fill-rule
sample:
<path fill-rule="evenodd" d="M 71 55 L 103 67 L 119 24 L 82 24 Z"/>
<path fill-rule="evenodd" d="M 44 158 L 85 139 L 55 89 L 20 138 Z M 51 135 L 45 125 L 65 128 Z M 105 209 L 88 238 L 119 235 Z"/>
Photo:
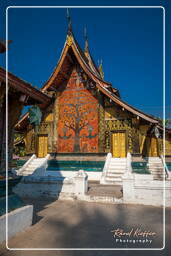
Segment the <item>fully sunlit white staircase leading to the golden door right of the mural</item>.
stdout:
<path fill-rule="evenodd" d="M 122 176 L 126 171 L 126 158 L 111 158 L 105 176 L 105 184 L 122 185 Z"/>

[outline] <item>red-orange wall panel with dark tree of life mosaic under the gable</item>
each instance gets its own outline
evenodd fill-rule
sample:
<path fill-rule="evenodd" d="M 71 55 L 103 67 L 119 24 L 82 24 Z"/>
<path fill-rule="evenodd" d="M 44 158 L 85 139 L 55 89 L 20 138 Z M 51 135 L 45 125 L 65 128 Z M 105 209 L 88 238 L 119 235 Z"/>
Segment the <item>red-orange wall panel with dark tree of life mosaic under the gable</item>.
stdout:
<path fill-rule="evenodd" d="M 58 153 L 98 152 L 99 104 L 93 89 L 74 68 L 58 97 Z"/>

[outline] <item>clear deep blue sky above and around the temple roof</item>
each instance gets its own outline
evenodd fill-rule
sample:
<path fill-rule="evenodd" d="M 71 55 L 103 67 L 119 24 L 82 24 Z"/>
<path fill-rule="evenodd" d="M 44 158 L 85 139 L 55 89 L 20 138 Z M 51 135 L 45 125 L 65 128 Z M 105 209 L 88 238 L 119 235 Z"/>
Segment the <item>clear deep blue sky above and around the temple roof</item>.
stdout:
<path fill-rule="evenodd" d="M 40 1 L 2 1 L 5 6 L 40 5 Z M 86 1 L 94 5 L 165 5 L 169 45 L 168 1 Z M 41 5 L 80 5 L 78 1 L 41 1 Z M 70 8 L 74 35 L 84 48 L 84 26 L 89 48 L 97 63 L 103 60 L 105 80 L 118 88 L 123 100 L 140 110 L 162 117 L 163 104 L 163 10 L 161 8 Z M 34 86 L 42 87 L 57 64 L 66 38 L 66 9 L 9 9 L 9 71 Z M 166 71 L 169 68 L 169 49 Z M 5 54 L 2 57 L 5 65 Z M 170 74 L 166 74 L 166 112 L 171 118 Z"/>

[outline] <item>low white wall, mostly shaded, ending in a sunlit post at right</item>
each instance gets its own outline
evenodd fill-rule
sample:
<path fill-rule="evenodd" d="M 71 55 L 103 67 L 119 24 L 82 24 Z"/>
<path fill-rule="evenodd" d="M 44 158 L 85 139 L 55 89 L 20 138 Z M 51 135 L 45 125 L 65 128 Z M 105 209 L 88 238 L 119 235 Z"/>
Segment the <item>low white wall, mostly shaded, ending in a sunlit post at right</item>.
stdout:
<path fill-rule="evenodd" d="M 25 176 L 18 183 L 13 192 L 21 197 L 54 197 L 60 194 L 68 197 L 87 192 L 87 174 L 80 170 L 73 178 L 52 176 Z"/>

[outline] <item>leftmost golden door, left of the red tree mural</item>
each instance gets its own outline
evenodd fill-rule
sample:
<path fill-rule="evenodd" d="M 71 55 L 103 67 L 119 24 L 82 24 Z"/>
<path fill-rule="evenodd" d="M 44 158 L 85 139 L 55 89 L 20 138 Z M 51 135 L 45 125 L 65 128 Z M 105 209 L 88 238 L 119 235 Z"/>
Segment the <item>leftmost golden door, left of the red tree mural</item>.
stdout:
<path fill-rule="evenodd" d="M 48 135 L 38 134 L 37 136 L 37 157 L 45 157 L 47 155 Z"/>

